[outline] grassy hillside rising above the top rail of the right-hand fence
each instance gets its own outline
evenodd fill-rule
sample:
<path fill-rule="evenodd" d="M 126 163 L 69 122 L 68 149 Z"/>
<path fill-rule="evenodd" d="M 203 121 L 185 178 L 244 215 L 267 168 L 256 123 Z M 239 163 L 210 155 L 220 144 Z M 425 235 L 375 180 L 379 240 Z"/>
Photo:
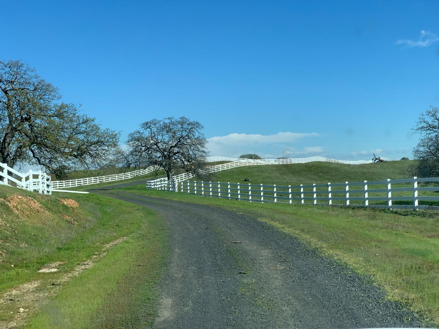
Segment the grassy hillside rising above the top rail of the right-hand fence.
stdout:
<path fill-rule="evenodd" d="M 340 182 L 377 181 L 407 178 L 404 170 L 414 161 L 388 161 L 371 164 L 339 164 L 309 162 L 304 164 L 267 164 L 238 167 L 216 172 L 212 182 L 242 182 L 245 177 L 252 184 L 300 185 Z"/>

